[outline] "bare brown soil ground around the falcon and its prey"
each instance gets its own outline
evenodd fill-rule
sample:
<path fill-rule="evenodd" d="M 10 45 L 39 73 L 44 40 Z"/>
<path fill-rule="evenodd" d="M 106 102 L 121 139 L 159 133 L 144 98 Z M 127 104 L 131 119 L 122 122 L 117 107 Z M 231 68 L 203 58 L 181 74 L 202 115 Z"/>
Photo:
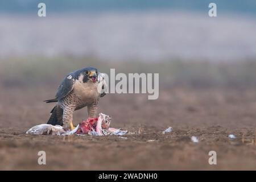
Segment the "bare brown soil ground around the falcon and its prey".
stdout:
<path fill-rule="evenodd" d="M 46 123 L 53 104 L 42 101 L 55 88 L 1 88 L 0 169 L 256 169 L 255 89 L 160 89 L 155 101 L 109 94 L 100 111 L 112 116 L 113 127 L 135 133 L 127 139 L 24 134 Z M 86 109 L 77 111 L 75 123 L 84 118 Z M 162 134 L 168 126 L 174 131 Z M 191 142 L 193 135 L 199 143 Z M 46 166 L 38 164 L 40 150 Z M 208 163 L 212 150 L 217 165 Z"/>

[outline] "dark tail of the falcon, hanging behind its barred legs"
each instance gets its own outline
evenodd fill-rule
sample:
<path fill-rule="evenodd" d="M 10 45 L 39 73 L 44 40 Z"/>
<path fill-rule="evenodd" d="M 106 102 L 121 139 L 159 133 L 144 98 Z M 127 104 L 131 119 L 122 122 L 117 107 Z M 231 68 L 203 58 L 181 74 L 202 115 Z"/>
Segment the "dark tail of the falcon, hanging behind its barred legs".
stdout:
<path fill-rule="evenodd" d="M 49 125 L 60 125 L 63 126 L 63 109 L 59 105 L 53 107 L 51 111 L 51 117 L 49 118 L 47 124 Z"/>

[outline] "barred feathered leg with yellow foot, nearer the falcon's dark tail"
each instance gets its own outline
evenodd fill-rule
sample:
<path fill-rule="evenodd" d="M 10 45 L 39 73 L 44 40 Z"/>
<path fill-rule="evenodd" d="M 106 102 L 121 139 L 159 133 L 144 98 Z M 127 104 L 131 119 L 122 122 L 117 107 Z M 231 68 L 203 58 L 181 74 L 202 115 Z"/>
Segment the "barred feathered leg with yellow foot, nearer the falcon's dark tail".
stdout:
<path fill-rule="evenodd" d="M 73 126 L 74 111 L 75 111 L 75 106 L 73 106 L 73 105 L 66 106 L 63 109 L 63 127 L 64 127 L 65 130 L 75 129 L 75 127 Z"/>

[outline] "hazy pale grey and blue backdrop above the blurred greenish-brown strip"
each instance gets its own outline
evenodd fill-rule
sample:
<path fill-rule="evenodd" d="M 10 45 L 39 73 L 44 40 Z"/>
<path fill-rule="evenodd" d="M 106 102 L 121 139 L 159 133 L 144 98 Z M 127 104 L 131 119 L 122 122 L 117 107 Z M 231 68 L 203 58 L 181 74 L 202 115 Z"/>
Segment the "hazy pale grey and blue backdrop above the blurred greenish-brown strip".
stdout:
<path fill-rule="evenodd" d="M 256 60 L 256 1 L 0 2 L 0 59 L 91 56 L 100 60 Z M 242 3 L 243 2 L 243 3 Z"/>

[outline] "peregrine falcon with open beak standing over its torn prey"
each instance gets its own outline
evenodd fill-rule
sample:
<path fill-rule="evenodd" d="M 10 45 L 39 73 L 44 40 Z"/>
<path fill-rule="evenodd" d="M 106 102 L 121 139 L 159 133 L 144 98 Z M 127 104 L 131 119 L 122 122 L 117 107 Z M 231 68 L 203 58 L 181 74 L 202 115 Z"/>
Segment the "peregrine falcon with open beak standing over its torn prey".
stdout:
<path fill-rule="evenodd" d="M 98 101 L 100 97 L 105 96 L 105 92 L 98 92 L 98 78 L 96 68 L 82 68 L 69 73 L 61 82 L 56 96 L 52 100 L 44 102 L 57 102 L 51 111 L 51 117 L 47 124 L 63 126 L 65 130 L 73 130 L 73 113 L 75 110 L 88 107 L 88 117 L 97 117 Z M 106 82 L 102 88 L 106 87 Z"/>

